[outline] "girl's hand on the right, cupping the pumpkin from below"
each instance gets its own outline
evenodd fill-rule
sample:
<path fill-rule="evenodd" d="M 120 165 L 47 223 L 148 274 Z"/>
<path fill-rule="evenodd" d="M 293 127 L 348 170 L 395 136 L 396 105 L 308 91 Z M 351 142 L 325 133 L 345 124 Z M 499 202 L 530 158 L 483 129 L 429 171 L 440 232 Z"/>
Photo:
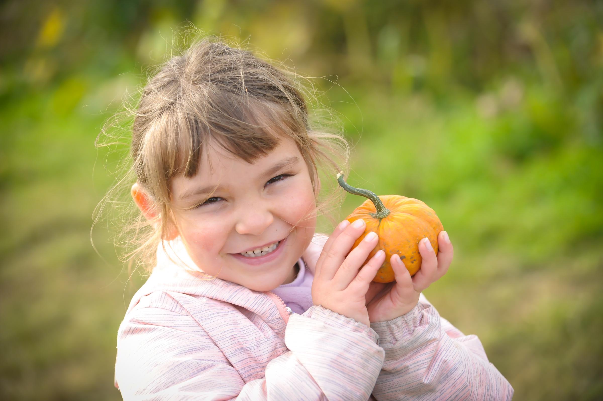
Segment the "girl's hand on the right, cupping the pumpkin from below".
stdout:
<path fill-rule="evenodd" d="M 368 319 L 371 323 L 393 320 L 410 312 L 417 305 L 421 291 L 446 274 L 454 254 L 448 234 L 442 231 L 438 235 L 437 256 L 431 244 L 427 244 L 429 244 L 429 240 L 423 238 L 418 245 L 423 260 L 421 269 L 414 276 L 411 277 L 408 273 L 400 256 L 394 254 L 390 262 L 396 281 L 370 283 L 365 298 Z"/>

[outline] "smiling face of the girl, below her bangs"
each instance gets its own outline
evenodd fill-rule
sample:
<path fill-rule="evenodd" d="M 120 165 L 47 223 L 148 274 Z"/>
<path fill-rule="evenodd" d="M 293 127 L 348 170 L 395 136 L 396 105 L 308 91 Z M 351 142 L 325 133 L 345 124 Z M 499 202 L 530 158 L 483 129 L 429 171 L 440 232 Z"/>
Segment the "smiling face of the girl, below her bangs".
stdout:
<path fill-rule="evenodd" d="M 282 139 L 254 164 L 218 146 L 208 150 L 197 175 L 172 180 L 174 220 L 192 260 L 255 291 L 292 282 L 316 227 L 314 190 L 297 145 Z M 201 204 L 204 188 L 218 185 Z M 246 252 L 262 248 L 260 256 Z"/>

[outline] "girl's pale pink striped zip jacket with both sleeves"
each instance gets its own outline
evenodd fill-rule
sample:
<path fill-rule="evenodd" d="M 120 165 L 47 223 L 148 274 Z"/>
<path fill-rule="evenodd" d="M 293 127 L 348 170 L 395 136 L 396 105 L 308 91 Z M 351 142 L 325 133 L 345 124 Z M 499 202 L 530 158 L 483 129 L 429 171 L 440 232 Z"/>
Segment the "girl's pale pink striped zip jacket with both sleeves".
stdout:
<path fill-rule="evenodd" d="M 181 242 L 172 247 L 194 266 Z M 370 327 L 320 305 L 292 314 L 274 292 L 204 280 L 161 247 L 119 326 L 115 386 L 126 401 L 513 396 L 479 339 L 423 294 L 408 314 Z"/>

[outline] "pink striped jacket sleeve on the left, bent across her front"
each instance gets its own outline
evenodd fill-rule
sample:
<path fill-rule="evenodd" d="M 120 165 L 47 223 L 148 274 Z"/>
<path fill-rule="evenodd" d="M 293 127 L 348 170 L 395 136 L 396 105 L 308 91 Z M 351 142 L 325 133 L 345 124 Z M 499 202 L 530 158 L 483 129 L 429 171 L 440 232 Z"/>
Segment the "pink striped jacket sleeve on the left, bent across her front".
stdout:
<path fill-rule="evenodd" d="M 171 320 L 178 329 L 166 327 Z M 384 361 L 377 341 L 370 327 L 315 305 L 289 317 L 289 350 L 245 383 L 191 316 L 140 308 L 119 330 L 116 385 L 125 401 L 365 401 Z"/>

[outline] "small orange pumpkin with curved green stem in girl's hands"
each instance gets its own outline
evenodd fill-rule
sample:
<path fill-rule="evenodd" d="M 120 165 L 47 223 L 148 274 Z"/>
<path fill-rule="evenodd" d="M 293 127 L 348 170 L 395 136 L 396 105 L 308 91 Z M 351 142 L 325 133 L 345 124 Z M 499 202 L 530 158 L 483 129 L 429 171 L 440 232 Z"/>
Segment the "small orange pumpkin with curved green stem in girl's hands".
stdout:
<path fill-rule="evenodd" d="M 414 276 L 421 268 L 422 258 L 418 251 L 418 243 L 425 237 L 429 238 L 435 254 L 438 254 L 438 235 L 444 227 L 434 210 L 423 201 L 402 195 L 377 197 L 367 189 L 348 185 L 344 181 L 343 172 L 337 174 L 337 181 L 350 194 L 368 198 L 356 207 L 346 220 L 353 223 L 363 219 L 367 224 L 364 233 L 356 239 L 352 249 L 356 248 L 371 231 L 379 236 L 379 242 L 364 262 L 368 262 L 378 250 L 385 251 L 385 262 L 377 271 L 374 282 L 391 283 L 396 280 L 390 264 L 390 258 L 394 253 L 399 254 L 408 273 Z"/>

